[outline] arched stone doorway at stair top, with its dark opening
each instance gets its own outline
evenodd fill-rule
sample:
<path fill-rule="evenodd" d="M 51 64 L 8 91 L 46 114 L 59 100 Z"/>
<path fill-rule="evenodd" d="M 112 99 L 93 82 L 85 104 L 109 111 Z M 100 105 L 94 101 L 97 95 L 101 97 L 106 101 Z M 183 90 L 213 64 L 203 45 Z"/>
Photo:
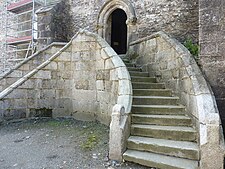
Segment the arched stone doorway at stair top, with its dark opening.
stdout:
<path fill-rule="evenodd" d="M 122 14 L 123 17 L 121 17 L 120 14 Z M 117 15 L 119 15 L 119 17 Z M 126 25 L 126 26 L 124 25 L 124 28 L 126 28 L 125 31 L 127 33 L 123 33 L 123 36 L 126 35 L 126 38 L 123 37 L 123 39 L 126 40 L 126 42 L 122 42 L 122 44 L 126 43 L 126 45 L 124 45 L 125 51 L 119 50 L 118 52 L 118 50 L 116 49 L 116 45 L 118 45 L 118 43 L 116 42 L 118 42 L 118 39 L 113 39 L 114 38 L 113 30 L 118 29 L 118 27 L 115 26 L 116 27 L 115 29 L 112 28 L 113 27 L 112 23 L 114 20 L 113 18 L 119 18 L 115 19 L 115 21 L 119 20 L 123 22 L 123 25 L 124 24 Z M 118 54 L 121 54 L 126 52 L 128 44 L 130 42 L 137 39 L 137 34 L 135 33 L 137 32 L 136 21 L 137 18 L 135 10 L 130 0 L 113 0 L 113 1 L 108 0 L 104 3 L 99 12 L 96 30 L 98 34 L 103 39 L 105 39 L 114 48 L 114 50 L 116 50 Z M 113 42 L 115 43 L 113 44 Z"/>

